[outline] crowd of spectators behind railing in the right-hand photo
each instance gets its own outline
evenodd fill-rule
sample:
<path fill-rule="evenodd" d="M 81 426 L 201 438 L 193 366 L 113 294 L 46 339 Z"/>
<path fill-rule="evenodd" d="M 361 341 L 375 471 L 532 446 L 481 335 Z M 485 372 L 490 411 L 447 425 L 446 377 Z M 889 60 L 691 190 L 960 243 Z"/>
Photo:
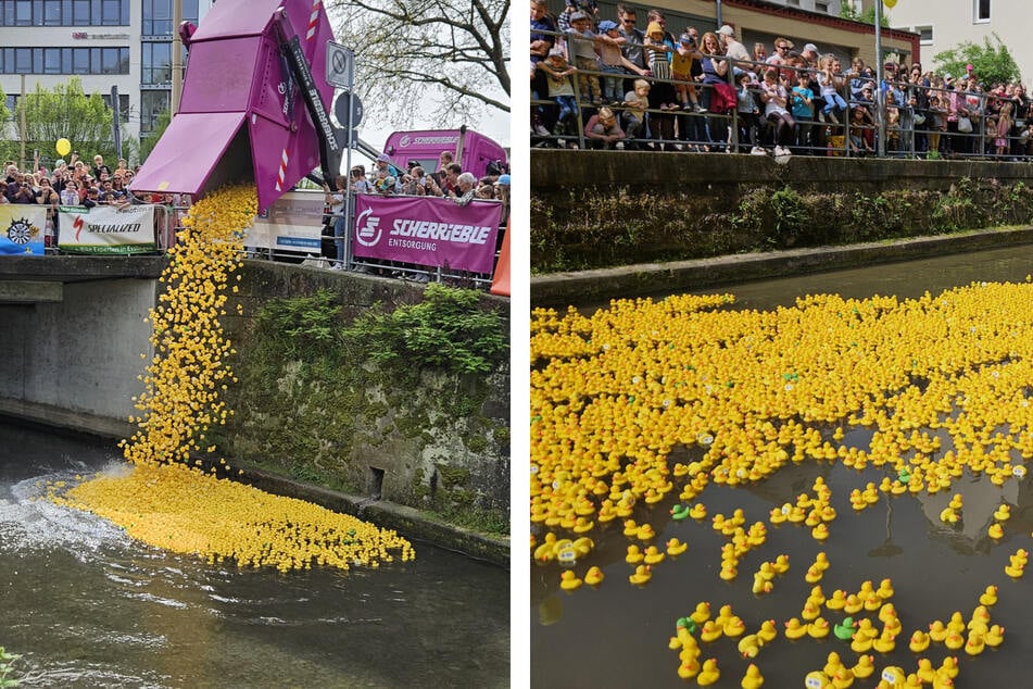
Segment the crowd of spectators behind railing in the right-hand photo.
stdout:
<path fill-rule="evenodd" d="M 644 20 L 644 21 L 643 21 Z M 920 63 L 848 65 L 811 42 L 740 42 L 728 25 L 675 36 L 659 10 L 531 0 L 530 136 L 536 146 L 727 151 L 777 156 L 1033 155 L 1033 99 Z M 879 117 L 877 95 L 885 114 Z"/>

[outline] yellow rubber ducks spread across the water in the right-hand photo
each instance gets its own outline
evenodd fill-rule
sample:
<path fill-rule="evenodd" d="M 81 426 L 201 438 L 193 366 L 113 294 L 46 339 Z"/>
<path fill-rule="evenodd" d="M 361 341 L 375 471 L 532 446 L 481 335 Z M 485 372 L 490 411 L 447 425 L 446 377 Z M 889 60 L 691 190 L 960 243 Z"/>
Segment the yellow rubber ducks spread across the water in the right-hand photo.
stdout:
<path fill-rule="evenodd" d="M 710 485 L 748 486 L 802 462 L 836 462 L 885 473 L 849 494 L 855 510 L 896 497 L 943 493 L 950 497 L 936 508 L 940 519 L 958 524 L 959 479 L 983 477 L 995 486 L 1022 480 L 1033 459 L 1031 302 L 1028 279 L 973 283 L 909 300 L 818 295 L 774 311 L 730 308 L 731 295 L 615 300 L 592 315 L 572 308 L 566 313 L 534 310 L 532 522 L 542 524 L 546 514 L 562 519 L 589 501 L 599 514 L 630 521 L 633 513 L 648 525 L 645 515 L 662 503 L 657 497 L 677 496 L 683 504 L 657 510 L 656 516 L 670 515 L 680 522 L 678 528 L 692 526 L 682 521 L 688 517 L 709 516 L 710 527 L 725 539 L 716 574 L 731 582 L 747 553 L 767 542 L 768 527 L 806 527 L 819 543 L 834 541 L 831 489 L 818 477 L 809 492 L 771 508 L 767 524 L 752 525 L 742 509 L 710 515 L 697 497 Z M 852 434 L 855 427 L 867 433 Z M 864 444 L 852 436 L 862 437 Z M 1003 539 L 1010 512 L 1010 505 L 999 504 L 993 524 L 981 533 Z M 626 536 L 647 543 L 655 533 L 647 529 L 648 538 L 642 538 L 642 527 L 633 524 Z M 1017 551 L 1005 573 L 1021 577 L 1026 556 Z M 670 566 L 669 561 L 653 565 Z M 852 667 L 819 671 L 823 684 L 815 686 L 845 687 L 854 677 L 871 675 L 875 666 L 868 652 L 892 652 L 900 634 L 908 635 L 903 646 L 919 655 L 933 646 L 974 655 L 1003 639 L 999 626 L 982 613 L 973 613 L 973 628 L 958 612 L 946 624 L 934 621 L 905 632 L 889 579 L 826 597 L 819 586 L 829 568 L 826 554 L 803 567 L 804 580 L 815 588 L 797 616 L 778 623 L 783 635 L 823 639 L 830 631 L 853 629 L 851 648 L 860 654 Z M 785 569 L 784 556 L 759 568 L 751 563 L 754 593 L 771 591 Z M 634 574 L 629 578 L 642 582 Z M 985 610 L 996 602 L 996 586 L 977 596 Z M 824 610 L 835 616 L 827 619 Z M 709 614 L 701 603 L 693 613 L 695 634 L 701 641 L 718 642 L 729 636 L 728 628 L 721 615 L 710 619 Z M 836 624 L 843 615 L 864 618 L 846 627 Z M 759 631 L 746 634 L 744 625 L 734 630 L 743 654 L 755 655 Z M 698 677 L 705 666 L 697 657 L 682 659 L 679 675 Z M 918 680 L 917 672 L 903 669 L 897 678 L 897 669 L 883 671 L 889 686 Z M 930 684 L 943 684 L 957 665 L 944 661 L 937 669 L 927 662 L 919 669 Z"/>

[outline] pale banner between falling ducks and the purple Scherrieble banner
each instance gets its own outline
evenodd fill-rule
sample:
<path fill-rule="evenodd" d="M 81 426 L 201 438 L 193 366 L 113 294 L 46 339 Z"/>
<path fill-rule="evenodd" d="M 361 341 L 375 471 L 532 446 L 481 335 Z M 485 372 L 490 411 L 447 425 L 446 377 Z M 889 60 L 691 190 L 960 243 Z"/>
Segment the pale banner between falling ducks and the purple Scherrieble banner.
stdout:
<path fill-rule="evenodd" d="M 323 206 L 322 191 L 289 191 L 254 218 L 244 246 L 250 250 L 263 249 L 274 253 L 319 254 Z"/>

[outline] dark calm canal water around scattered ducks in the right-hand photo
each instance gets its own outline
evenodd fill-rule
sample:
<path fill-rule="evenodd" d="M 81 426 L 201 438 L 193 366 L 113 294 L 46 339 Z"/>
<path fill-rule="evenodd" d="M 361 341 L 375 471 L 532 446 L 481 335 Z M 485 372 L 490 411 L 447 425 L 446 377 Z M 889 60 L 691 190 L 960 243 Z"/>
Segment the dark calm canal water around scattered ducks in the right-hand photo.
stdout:
<path fill-rule="evenodd" d="M 804 295 L 835 292 L 865 298 L 878 293 L 909 298 L 972 281 L 1021 281 L 1030 273 L 1033 247 L 1019 247 L 708 291 L 731 292 L 742 308 L 772 309 L 792 305 Z M 594 308 L 589 304 L 582 311 Z M 1030 315 L 1033 318 L 1033 304 Z M 844 441 L 862 444 L 866 433 L 855 427 L 847 431 Z M 968 621 L 990 584 L 999 587 L 1000 603 L 991 609 L 991 615 L 993 623 L 1006 628 L 1004 643 L 973 657 L 961 650 L 948 652 L 942 643 L 931 646 L 923 655 L 937 666 L 947 654 L 958 656 L 961 673 L 955 680 L 956 687 L 1033 686 L 1033 579 L 1011 579 L 1004 573 L 1009 555 L 1017 549 L 1033 552 L 1030 477 L 997 488 L 985 477 L 967 473 L 949 492 L 881 497 L 873 508 L 854 512 L 849 492 L 862 489 L 868 481 L 878 485 L 884 475 L 875 467 L 857 472 L 842 464 L 815 461 L 783 467 L 769 479 L 747 488 L 708 486 L 696 500 L 706 504 L 710 515 L 730 515 L 735 508 L 742 508 L 746 526 L 756 521 L 768 525 L 767 542 L 743 560 L 738 579 L 729 582 L 717 576 L 720 548 L 728 539 L 710 528 L 710 519 L 676 522 L 666 516 L 679 502 L 677 488 L 650 509 L 637 505 L 631 517 L 640 524 L 653 524 L 656 537 L 652 542 L 662 549 L 671 537 L 689 543 L 688 552 L 676 561 L 668 560 L 655 567 L 646 586 L 635 587 L 628 581 L 633 567 L 625 562 L 625 555 L 631 541 L 621 533 L 620 519 L 589 534 L 595 550 L 576 567 L 580 576 L 589 565 L 599 565 L 606 578 L 597 588 L 583 586 L 572 592 L 563 591 L 558 586 L 560 565 L 531 562 L 531 686 L 696 686 L 695 679 L 679 678 L 678 651 L 670 650 L 668 642 L 676 634 L 676 621 L 692 613 L 701 601 L 709 602 L 715 613 L 720 604 L 731 604 L 746 623 L 747 634 L 756 631 L 763 621 L 779 621 L 779 637 L 752 661 L 760 667 L 765 687 L 804 687 L 807 673 L 820 671 L 830 651 L 840 653 L 843 662 L 852 666 L 857 654 L 847 642 L 832 635 L 823 640 L 805 636 L 790 641 L 781 634 L 782 621 L 801 615 L 812 586 L 804 580 L 804 573 L 819 550 L 826 551 L 831 562 L 820 582 L 826 594 L 837 588 L 857 591 L 865 580 L 878 587 L 886 577 L 895 589 L 892 601 L 903 623 L 896 649 L 886 655 L 874 653 L 878 672 L 868 679 L 855 680 L 854 687 L 874 687 L 881 669 L 891 664 L 915 672 L 919 656 L 907 648 L 911 631 L 924 629 L 933 619 L 946 622 L 954 611 L 960 611 Z M 772 508 L 792 502 L 805 491 L 814 494 L 811 487 L 819 476 L 831 486 L 832 505 L 839 513 L 830 525 L 832 537 L 820 546 L 811 538 L 809 528 L 768 523 Z M 946 525 L 938 515 L 955 491 L 965 496 L 963 519 Z M 1012 516 L 1006 524 L 1005 537 L 994 541 L 987 527 L 1001 502 L 1012 505 Z M 534 524 L 531 527 L 532 534 L 541 539 L 544 529 Z M 562 533 L 560 538 L 564 536 Z M 774 560 L 780 553 L 789 555 L 790 571 L 774 580 L 771 593 L 753 594 L 753 573 L 761 561 Z M 827 610 L 822 614 L 833 623 L 843 617 Z M 877 622 L 877 626 L 882 625 Z M 715 686 L 741 686 L 751 661 L 742 657 L 736 646 L 727 638 L 701 643 L 701 662 L 707 657 L 718 660 L 721 676 Z"/>

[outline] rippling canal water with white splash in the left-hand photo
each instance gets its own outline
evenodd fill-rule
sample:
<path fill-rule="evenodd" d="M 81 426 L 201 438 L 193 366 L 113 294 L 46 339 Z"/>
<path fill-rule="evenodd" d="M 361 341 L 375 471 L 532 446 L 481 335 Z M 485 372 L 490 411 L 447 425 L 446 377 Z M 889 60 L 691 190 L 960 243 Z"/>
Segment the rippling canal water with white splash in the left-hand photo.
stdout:
<path fill-rule="evenodd" d="M 378 569 L 209 566 L 36 500 L 121 463 L 0 419 L 0 646 L 23 686 L 509 686 L 507 571 L 418 541 Z"/>

